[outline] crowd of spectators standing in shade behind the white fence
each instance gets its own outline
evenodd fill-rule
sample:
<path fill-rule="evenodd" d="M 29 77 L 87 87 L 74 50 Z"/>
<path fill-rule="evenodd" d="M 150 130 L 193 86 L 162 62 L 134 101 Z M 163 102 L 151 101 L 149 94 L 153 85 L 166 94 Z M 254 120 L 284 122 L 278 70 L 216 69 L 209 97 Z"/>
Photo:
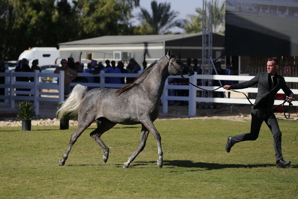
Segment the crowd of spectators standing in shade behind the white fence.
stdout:
<path fill-rule="evenodd" d="M 1 72 L 5 72 L 5 69 L 7 67 L 4 67 L 4 61 L 1 60 L 0 62 L 0 70 Z M 187 58 L 185 65 L 193 67 L 194 71 L 197 74 L 202 74 L 202 68 L 201 66 L 198 66 L 198 60 L 197 59 L 191 59 Z M 124 73 L 124 74 L 136 74 L 139 72 L 143 72 L 147 68 L 147 62 L 144 61 L 142 63 L 143 68 L 138 64 L 138 62 L 134 59 L 131 58 L 129 60 L 129 63 L 127 66 L 124 66 L 123 61 L 118 61 L 117 65 L 114 60 L 106 60 L 105 63 L 99 61 L 97 62 L 96 60 L 91 60 L 89 63 L 87 63 L 87 67 L 84 67 L 83 63 L 80 63 L 78 61 L 74 62 L 74 58 L 70 57 L 67 60 L 62 59 L 61 60 L 61 66 L 57 67 L 54 73 L 59 73 L 60 71 L 65 71 L 65 96 L 69 95 L 71 92 L 71 82 L 75 83 L 100 83 L 100 77 L 98 76 L 88 76 L 88 77 L 83 77 L 80 76 L 79 73 L 90 73 L 90 74 L 99 74 L 100 71 L 104 71 L 105 73 Z M 230 67 L 229 64 L 227 64 L 226 69 L 222 69 L 221 63 L 217 62 L 215 64 L 215 69 L 213 70 L 212 74 L 213 75 L 233 75 L 233 71 Z M 18 61 L 17 66 L 15 67 L 15 72 L 33 72 L 35 70 L 39 70 L 41 72 L 40 67 L 38 66 L 38 60 L 33 60 L 32 61 L 32 67 L 30 68 L 28 65 L 28 60 L 25 58 L 22 60 Z M 2 83 L 1 78 L 1 84 Z M 136 78 L 132 77 L 105 77 L 105 83 L 108 84 L 129 84 L 133 82 Z M 22 77 L 18 78 L 17 81 L 34 81 L 34 79 Z M 168 80 L 168 83 L 170 85 L 188 85 L 188 82 L 183 80 L 180 77 L 177 78 L 170 78 Z M 202 80 L 198 79 L 197 80 L 197 85 L 198 86 L 204 86 L 203 84 L 207 84 L 203 82 Z M 219 81 L 213 81 L 213 86 L 220 86 Z M 93 89 L 95 87 L 88 87 L 89 90 Z M 170 89 L 168 91 L 169 96 L 185 96 L 187 97 L 189 95 L 188 90 L 173 90 Z M 3 95 L 4 91 L 3 89 L 0 89 L 0 95 Z M 199 91 L 197 93 L 197 97 L 204 97 L 204 93 L 202 91 Z M 214 92 L 214 97 L 220 97 L 223 98 L 223 93 L 222 92 Z M 229 96 L 228 96 L 229 97 Z M 169 105 L 188 105 L 187 101 L 169 101 Z"/>

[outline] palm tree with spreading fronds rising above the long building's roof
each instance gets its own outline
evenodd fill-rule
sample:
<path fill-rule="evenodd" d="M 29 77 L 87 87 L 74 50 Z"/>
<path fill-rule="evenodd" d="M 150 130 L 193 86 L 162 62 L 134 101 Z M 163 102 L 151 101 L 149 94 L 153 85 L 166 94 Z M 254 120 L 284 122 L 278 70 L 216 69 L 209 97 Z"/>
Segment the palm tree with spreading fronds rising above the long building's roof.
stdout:
<path fill-rule="evenodd" d="M 143 26 L 148 26 L 148 34 L 165 34 L 178 22 L 175 18 L 179 12 L 170 11 L 170 3 L 151 1 L 152 15 L 145 8 L 141 8 L 138 19 Z"/>

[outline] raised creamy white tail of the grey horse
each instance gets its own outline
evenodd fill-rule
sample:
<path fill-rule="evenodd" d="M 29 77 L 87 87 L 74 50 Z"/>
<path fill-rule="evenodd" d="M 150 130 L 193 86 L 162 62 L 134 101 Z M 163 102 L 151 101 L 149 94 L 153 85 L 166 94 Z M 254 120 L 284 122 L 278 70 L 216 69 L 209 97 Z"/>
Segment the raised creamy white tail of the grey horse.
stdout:
<path fill-rule="evenodd" d="M 76 115 L 78 113 L 79 104 L 87 92 L 87 87 L 77 84 L 68 99 L 65 100 L 57 110 L 57 117 L 61 119 L 63 115 L 68 113 L 70 113 L 70 115 Z"/>

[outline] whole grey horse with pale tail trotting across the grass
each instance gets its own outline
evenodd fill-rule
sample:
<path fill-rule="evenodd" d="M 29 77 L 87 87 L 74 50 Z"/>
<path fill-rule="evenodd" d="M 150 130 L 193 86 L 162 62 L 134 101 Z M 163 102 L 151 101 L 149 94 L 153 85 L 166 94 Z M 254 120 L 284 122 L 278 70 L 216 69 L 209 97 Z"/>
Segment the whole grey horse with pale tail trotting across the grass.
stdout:
<path fill-rule="evenodd" d="M 153 121 L 159 113 L 160 97 L 166 78 L 169 75 L 182 76 L 186 74 L 189 76 L 194 74 L 192 67 L 182 64 L 169 49 L 167 55 L 153 62 L 134 82 L 119 90 L 96 88 L 88 91 L 85 86 L 76 85 L 69 98 L 57 110 L 60 119 L 67 113 L 78 115 L 77 127 L 71 136 L 63 159 L 59 161 L 59 165 L 65 164 L 77 138 L 97 119 L 99 125 L 90 133 L 90 136 L 103 149 L 104 162 L 108 160 L 109 148 L 101 140 L 101 135 L 116 124 L 142 124 L 139 148 L 124 163 L 123 168 L 128 168 L 137 155 L 143 151 L 149 132 L 157 141 L 159 156 L 157 165 L 162 167 L 161 137 Z"/>

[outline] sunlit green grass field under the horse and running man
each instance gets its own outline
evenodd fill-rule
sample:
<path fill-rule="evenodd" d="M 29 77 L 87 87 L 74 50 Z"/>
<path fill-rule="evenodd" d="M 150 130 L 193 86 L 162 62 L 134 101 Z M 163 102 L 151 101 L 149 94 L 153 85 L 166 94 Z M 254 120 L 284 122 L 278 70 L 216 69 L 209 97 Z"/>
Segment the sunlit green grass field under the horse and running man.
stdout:
<path fill-rule="evenodd" d="M 107 163 L 88 128 L 74 144 L 65 166 L 58 166 L 74 127 L 0 127 L 0 198 L 96 199 L 297 199 L 298 122 L 279 120 L 283 153 L 292 164 L 275 166 L 273 137 L 266 125 L 256 141 L 238 143 L 226 153 L 229 135 L 247 132 L 250 121 L 159 120 L 163 168 L 149 134 L 130 168 L 122 165 L 139 145 L 141 125 L 116 125 L 102 135 L 110 147 Z"/>

